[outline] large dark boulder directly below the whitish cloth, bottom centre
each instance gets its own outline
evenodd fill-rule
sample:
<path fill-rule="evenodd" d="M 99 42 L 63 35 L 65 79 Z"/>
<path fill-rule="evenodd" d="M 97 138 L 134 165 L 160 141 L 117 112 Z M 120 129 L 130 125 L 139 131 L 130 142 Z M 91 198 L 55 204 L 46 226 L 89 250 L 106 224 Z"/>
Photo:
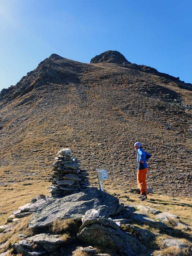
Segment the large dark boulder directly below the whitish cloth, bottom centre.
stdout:
<path fill-rule="evenodd" d="M 85 222 L 82 226 L 84 224 Z M 131 233 L 127 233 L 121 230 L 118 225 L 115 225 L 109 219 L 91 219 L 90 223 L 87 221 L 84 228 L 80 227 L 81 231 L 77 237 L 86 244 L 98 246 L 102 249 L 110 248 L 114 252 L 119 251 L 123 255 L 135 256 L 146 249 Z"/>

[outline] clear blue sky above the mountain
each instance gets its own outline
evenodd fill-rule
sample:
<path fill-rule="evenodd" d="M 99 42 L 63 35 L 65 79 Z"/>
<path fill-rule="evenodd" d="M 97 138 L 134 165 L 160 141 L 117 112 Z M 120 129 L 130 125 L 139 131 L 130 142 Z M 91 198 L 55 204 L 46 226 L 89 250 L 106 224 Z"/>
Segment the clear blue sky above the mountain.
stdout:
<path fill-rule="evenodd" d="M 192 83 L 191 0 L 0 0 L 0 90 L 52 53 L 106 50 Z"/>

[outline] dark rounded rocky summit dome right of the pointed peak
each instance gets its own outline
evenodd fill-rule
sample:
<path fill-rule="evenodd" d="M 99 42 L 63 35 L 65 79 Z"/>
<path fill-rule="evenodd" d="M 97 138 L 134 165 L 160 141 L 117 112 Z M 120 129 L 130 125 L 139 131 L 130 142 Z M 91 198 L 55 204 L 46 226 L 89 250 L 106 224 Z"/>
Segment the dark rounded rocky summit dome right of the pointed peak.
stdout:
<path fill-rule="evenodd" d="M 90 63 L 130 63 L 123 54 L 117 51 L 108 50 L 99 55 L 96 55 L 93 59 L 91 59 Z"/>

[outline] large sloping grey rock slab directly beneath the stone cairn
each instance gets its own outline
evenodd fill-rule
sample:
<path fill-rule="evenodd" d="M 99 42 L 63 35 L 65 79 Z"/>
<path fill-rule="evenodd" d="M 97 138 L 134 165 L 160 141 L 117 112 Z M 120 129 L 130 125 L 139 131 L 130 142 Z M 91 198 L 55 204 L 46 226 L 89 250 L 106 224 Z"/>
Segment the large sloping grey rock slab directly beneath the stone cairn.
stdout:
<path fill-rule="evenodd" d="M 116 197 L 91 187 L 63 198 L 48 200 L 32 209 L 34 215 L 29 220 L 29 227 L 49 226 L 57 218 L 80 220 L 86 211 L 98 208 L 101 208 L 100 216 L 108 218 L 116 214 L 118 207 L 119 201 Z"/>

